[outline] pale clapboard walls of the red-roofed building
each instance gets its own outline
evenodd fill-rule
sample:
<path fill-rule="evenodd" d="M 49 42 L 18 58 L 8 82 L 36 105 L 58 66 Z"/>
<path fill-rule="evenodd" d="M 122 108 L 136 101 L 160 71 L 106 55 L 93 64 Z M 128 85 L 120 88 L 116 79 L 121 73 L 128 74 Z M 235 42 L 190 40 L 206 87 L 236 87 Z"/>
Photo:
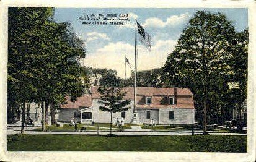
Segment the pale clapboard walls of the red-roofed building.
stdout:
<path fill-rule="evenodd" d="M 92 108 L 86 109 L 83 112 L 92 112 L 91 120 L 82 120 L 82 123 L 109 123 L 110 112 L 102 111 L 99 109 L 99 99 L 92 100 Z M 131 123 L 133 118 L 133 101 L 130 103 L 130 109 L 125 112 L 125 123 Z M 160 109 L 145 109 L 138 108 L 138 117 L 141 123 L 150 123 L 150 119 L 146 119 L 146 111 L 151 111 L 151 119 L 156 124 L 193 124 L 195 121 L 195 109 L 191 108 L 160 108 Z M 169 119 L 169 111 L 174 111 L 174 119 Z M 70 122 L 74 118 L 74 112 L 79 113 L 78 109 L 60 109 L 59 120 L 60 122 Z M 81 112 L 80 112 L 81 113 Z M 121 119 L 121 112 L 113 113 L 113 123 L 117 120 L 117 117 Z M 81 120 L 81 117 L 75 119 L 77 122 Z"/>

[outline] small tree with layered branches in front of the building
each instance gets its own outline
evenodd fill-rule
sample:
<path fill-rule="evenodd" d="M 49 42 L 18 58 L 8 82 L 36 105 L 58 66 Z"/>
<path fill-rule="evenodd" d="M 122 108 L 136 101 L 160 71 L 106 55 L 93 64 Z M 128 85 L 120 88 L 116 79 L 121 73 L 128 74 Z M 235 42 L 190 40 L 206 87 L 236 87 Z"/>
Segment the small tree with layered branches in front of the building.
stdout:
<path fill-rule="evenodd" d="M 99 109 L 110 112 L 110 135 L 112 134 L 112 114 L 121 111 L 127 111 L 131 103 L 130 100 L 124 100 L 126 92 L 121 87 L 100 86 L 98 92 L 102 95 L 98 103 L 102 104 Z"/>

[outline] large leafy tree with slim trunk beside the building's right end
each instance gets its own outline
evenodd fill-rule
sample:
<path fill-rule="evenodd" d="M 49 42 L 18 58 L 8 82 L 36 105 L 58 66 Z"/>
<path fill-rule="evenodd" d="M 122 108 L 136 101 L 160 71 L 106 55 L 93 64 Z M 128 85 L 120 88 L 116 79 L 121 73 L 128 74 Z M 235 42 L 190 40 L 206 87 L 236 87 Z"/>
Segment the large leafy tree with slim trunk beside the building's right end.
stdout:
<path fill-rule="evenodd" d="M 203 112 L 204 134 L 207 109 L 223 106 L 234 55 L 231 42 L 236 38 L 234 26 L 225 15 L 196 11 L 163 67 L 166 83 L 192 90 L 196 111 Z"/>

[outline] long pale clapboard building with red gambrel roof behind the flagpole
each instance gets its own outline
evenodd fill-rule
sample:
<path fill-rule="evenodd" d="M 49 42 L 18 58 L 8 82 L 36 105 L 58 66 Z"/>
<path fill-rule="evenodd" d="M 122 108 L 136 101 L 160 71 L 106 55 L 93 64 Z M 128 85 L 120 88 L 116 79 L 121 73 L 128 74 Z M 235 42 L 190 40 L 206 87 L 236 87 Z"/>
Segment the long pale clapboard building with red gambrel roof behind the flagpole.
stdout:
<path fill-rule="evenodd" d="M 133 87 L 126 87 L 125 99 L 130 99 L 128 111 L 113 113 L 113 120 L 125 119 L 125 123 L 131 123 L 133 118 Z M 109 123 L 110 113 L 99 109 L 100 93 L 97 87 L 92 87 L 90 95 L 77 98 L 74 103 L 68 99 L 68 103 L 61 106 L 59 122 L 70 122 L 74 118 L 77 122 Z M 138 87 L 136 95 L 136 109 L 141 123 L 149 123 L 151 119 L 156 124 L 193 124 L 195 119 L 195 107 L 193 94 L 187 88 L 154 88 Z"/>

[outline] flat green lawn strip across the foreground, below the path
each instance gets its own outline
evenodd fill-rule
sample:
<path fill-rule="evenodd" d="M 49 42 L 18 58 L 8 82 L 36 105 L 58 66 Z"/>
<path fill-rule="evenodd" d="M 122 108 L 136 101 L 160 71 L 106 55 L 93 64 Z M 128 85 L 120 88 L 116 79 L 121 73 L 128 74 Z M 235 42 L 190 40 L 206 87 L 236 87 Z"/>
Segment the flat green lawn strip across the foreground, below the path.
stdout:
<path fill-rule="evenodd" d="M 7 135 L 8 151 L 246 152 L 246 135 Z"/>

